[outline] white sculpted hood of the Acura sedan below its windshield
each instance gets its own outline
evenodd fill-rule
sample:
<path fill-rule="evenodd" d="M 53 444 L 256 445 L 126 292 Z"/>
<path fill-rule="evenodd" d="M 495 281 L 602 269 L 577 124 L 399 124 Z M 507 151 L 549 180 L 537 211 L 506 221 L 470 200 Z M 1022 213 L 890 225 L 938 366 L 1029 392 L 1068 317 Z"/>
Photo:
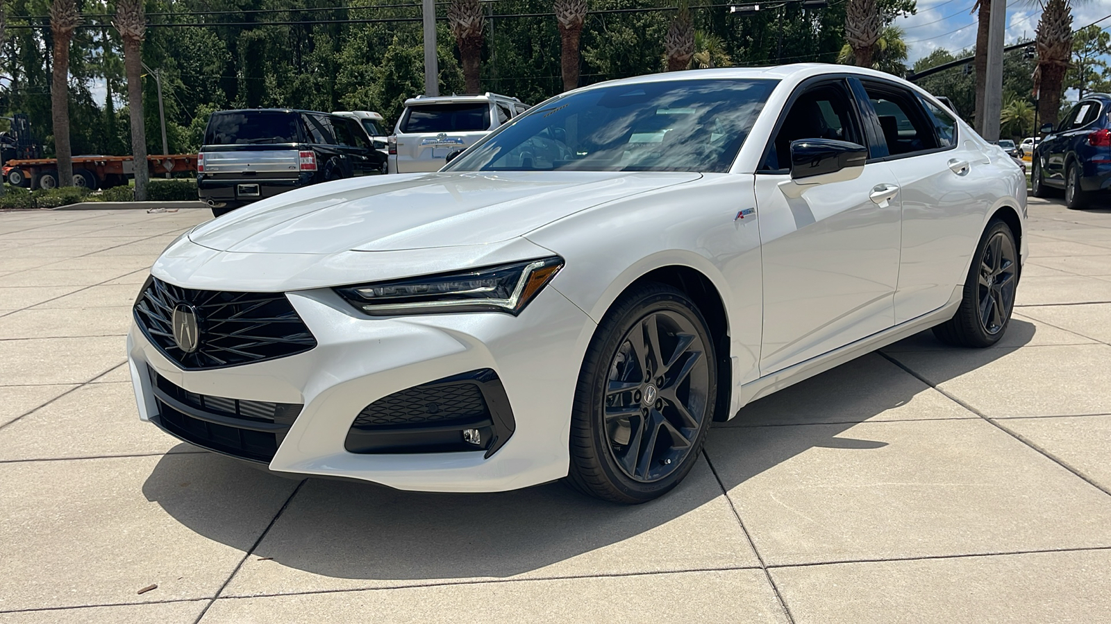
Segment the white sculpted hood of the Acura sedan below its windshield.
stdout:
<path fill-rule="evenodd" d="M 290 191 L 189 233 L 241 253 L 332 254 L 493 243 L 588 208 L 701 178 L 678 172 L 393 174 Z"/>

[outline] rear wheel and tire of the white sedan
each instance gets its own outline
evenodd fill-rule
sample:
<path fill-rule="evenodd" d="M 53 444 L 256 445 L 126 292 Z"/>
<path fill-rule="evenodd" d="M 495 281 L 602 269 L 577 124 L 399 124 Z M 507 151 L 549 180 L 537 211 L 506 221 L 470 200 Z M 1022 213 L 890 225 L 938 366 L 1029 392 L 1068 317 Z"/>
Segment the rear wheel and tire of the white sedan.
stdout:
<path fill-rule="evenodd" d="M 933 328 L 938 340 L 954 346 L 991 346 L 1003 338 L 1014 311 L 1019 253 L 1011 228 L 988 223 L 964 280 L 964 296 L 953 318 Z"/>

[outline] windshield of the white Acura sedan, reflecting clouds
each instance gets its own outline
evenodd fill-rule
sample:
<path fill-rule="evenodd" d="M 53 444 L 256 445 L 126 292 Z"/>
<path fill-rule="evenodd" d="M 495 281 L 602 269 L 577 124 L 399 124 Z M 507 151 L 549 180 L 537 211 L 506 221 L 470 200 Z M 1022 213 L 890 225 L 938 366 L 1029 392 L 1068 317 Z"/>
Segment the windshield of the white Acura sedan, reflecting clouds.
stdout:
<path fill-rule="evenodd" d="M 448 171 L 724 172 L 773 80 L 669 80 L 590 89 L 518 117 Z"/>

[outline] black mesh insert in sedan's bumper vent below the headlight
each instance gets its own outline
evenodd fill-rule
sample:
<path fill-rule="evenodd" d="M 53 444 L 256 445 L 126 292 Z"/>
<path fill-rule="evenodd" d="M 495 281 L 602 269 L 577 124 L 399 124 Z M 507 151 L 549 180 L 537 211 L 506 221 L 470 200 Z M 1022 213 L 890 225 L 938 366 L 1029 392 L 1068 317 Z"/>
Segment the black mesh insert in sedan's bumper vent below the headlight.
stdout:
<path fill-rule="evenodd" d="M 474 383 L 418 385 L 367 405 L 353 426 L 419 426 L 487 417 L 489 413 Z"/>

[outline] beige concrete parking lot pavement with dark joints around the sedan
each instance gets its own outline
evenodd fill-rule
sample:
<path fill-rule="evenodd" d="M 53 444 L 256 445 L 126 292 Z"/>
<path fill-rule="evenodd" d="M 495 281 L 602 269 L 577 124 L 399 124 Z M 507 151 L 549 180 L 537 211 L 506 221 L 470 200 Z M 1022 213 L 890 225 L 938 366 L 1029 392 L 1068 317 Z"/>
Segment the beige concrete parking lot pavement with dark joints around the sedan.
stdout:
<path fill-rule="evenodd" d="M 1109 622 L 1111 210 L 1030 214 L 998 345 L 924 332 L 760 400 L 622 507 L 180 443 L 123 336 L 209 211 L 0 213 L 0 622 Z"/>

